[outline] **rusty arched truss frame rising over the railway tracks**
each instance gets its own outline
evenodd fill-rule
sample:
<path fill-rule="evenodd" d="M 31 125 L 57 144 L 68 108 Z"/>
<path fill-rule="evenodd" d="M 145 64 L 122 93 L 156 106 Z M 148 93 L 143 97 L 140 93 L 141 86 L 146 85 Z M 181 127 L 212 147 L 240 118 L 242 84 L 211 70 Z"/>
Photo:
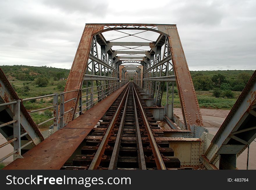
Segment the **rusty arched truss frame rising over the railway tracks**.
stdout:
<path fill-rule="evenodd" d="M 152 31 L 159 33 L 159 37 L 152 42 L 107 41 L 103 33 L 112 30 Z M 129 34 L 128 36 L 141 38 L 137 34 Z M 100 46 L 100 51 L 98 51 L 98 46 Z M 150 50 L 136 52 L 144 53 L 145 56 L 117 56 L 119 52 L 112 50 L 113 46 L 148 46 Z M 121 53 L 136 54 L 129 51 L 122 51 Z M 66 122 L 77 116 L 77 100 L 82 97 L 79 91 L 83 89 L 83 86 L 86 87 L 86 109 L 89 109 L 95 103 L 93 102 L 95 98 L 97 98 L 97 102 L 100 102 L 127 82 L 125 73 L 123 73 L 124 66 L 121 65 L 123 63 L 139 63 L 142 65 L 141 75 L 138 75 L 141 78 L 137 78 L 135 82 L 137 84 L 140 82 L 139 85 L 148 95 L 148 98 L 154 99 L 155 105 L 162 106 L 162 97 L 165 89 L 167 89 L 165 109 L 168 110 L 166 116 L 171 120 L 175 120 L 173 116 L 173 94 L 174 82 L 176 82 L 184 129 L 190 129 L 192 125 L 203 125 L 177 27 L 172 24 L 86 24 L 65 86 L 65 92 L 74 91 L 67 93 L 64 99 L 75 98 L 74 102 L 70 101 L 65 105 L 65 111 L 73 109 L 65 114 Z M 120 67 L 122 67 L 121 70 Z M 86 81 L 86 85 L 84 85 L 84 81 Z M 95 82 L 89 84 L 89 81 L 96 81 L 97 87 L 93 86 Z M 89 95 L 94 93 L 94 88 L 97 88 L 97 97 Z M 80 90 L 75 91 L 75 89 Z M 79 112 L 79 114 L 81 113 L 82 111 Z"/>

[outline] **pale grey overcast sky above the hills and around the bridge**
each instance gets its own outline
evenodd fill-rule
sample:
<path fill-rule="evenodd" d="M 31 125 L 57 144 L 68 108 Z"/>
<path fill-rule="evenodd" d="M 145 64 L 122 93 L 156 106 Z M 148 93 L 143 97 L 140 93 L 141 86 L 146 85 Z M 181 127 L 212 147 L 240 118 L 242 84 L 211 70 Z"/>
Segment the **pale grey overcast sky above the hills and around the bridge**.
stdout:
<path fill-rule="evenodd" d="M 0 66 L 70 69 L 86 23 L 177 24 L 190 70 L 256 69 L 256 1 L 0 1 Z"/>

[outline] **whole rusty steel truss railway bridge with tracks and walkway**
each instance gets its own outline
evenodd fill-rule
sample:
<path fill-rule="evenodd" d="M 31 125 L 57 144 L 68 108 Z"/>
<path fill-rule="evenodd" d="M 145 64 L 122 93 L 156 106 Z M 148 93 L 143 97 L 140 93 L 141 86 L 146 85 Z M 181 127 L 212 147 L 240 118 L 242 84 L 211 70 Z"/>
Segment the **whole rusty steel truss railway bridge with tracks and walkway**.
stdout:
<path fill-rule="evenodd" d="M 1 70 L 0 132 L 7 142 L 0 148 L 11 144 L 13 152 L 0 162 L 13 156 L 4 169 L 236 169 L 256 137 L 255 81 L 256 73 L 211 135 L 176 25 L 86 24 L 63 93 L 19 99 Z M 175 83 L 181 120 L 173 113 Z M 52 106 L 23 105 L 45 97 Z M 46 109 L 53 117 L 35 124 L 30 114 Z"/>

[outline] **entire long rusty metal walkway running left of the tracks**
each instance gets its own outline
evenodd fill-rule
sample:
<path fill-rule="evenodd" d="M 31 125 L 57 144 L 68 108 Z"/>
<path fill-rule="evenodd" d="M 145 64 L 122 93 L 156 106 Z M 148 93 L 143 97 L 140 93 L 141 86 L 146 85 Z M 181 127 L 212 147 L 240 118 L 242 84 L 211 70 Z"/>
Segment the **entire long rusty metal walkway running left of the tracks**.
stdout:
<path fill-rule="evenodd" d="M 14 160 L 3 169 L 60 169 L 126 86 L 23 154 L 23 159 Z"/>

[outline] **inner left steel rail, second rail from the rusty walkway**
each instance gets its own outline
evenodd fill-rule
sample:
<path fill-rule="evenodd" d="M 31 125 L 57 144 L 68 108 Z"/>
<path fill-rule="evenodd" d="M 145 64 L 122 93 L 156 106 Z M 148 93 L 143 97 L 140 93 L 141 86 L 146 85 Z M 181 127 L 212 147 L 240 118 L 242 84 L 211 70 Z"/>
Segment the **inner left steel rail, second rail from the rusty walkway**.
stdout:
<path fill-rule="evenodd" d="M 109 170 L 116 169 L 119 150 L 120 150 L 120 144 L 121 144 L 121 139 L 122 139 L 122 131 L 123 131 L 123 128 L 124 128 L 124 123 L 125 123 L 125 113 L 126 113 L 126 109 L 127 109 L 127 102 L 128 102 L 129 92 L 130 92 L 130 86 L 128 87 L 128 93 L 127 93 L 127 97 L 126 97 L 126 101 L 125 101 L 125 107 L 124 107 L 124 111 L 123 111 L 123 114 L 122 114 L 122 119 L 120 121 L 120 125 L 119 125 L 119 128 L 118 128 L 118 133 L 117 133 L 117 136 L 116 136 L 115 145 L 114 145 L 114 148 L 113 148 L 113 153 L 112 153 L 111 160 L 110 160 L 110 163 L 109 163 Z"/>

